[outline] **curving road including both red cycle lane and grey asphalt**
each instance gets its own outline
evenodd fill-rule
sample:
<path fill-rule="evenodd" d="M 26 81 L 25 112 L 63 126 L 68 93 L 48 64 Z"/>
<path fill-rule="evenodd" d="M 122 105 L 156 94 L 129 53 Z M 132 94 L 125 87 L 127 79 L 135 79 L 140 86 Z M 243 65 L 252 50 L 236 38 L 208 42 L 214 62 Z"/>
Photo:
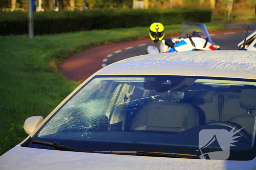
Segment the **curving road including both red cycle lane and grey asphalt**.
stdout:
<path fill-rule="evenodd" d="M 247 24 L 226 24 L 226 26 L 226 31 L 212 33 L 210 34 L 211 38 L 214 43 L 221 46 L 221 50 L 237 50 L 237 44 L 245 37 L 244 30 L 247 28 Z M 234 27 L 238 31 L 230 31 Z M 250 29 L 256 29 L 256 24 L 251 24 Z M 144 40 L 122 42 L 87 49 L 64 60 L 61 64 L 60 72 L 68 79 L 84 81 L 90 75 L 111 63 L 146 54 L 146 49 L 149 45 L 153 45 L 153 43 L 148 37 L 148 39 Z"/>

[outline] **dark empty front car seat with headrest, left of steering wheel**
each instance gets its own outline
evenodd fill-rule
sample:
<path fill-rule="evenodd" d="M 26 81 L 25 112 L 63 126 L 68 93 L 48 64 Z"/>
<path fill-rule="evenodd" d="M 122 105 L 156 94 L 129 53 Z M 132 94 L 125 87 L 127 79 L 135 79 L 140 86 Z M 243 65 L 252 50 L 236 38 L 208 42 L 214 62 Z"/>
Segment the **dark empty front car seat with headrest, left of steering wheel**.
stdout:
<path fill-rule="evenodd" d="M 182 94 L 183 93 L 183 94 Z M 177 133 L 199 125 L 196 109 L 188 103 L 180 103 L 184 92 L 155 93 L 158 100 L 142 106 L 131 126 L 133 131 L 157 131 Z"/>

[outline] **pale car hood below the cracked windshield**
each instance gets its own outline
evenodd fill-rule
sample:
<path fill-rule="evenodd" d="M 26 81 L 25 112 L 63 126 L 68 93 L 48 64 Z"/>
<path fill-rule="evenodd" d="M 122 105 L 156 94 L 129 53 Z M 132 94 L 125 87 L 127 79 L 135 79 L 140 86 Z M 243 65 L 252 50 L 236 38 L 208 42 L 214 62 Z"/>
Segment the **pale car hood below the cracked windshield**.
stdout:
<path fill-rule="evenodd" d="M 256 169 L 255 161 L 220 161 L 79 153 L 16 146 L 0 157 L 1 170 L 107 170 L 107 169 Z"/>

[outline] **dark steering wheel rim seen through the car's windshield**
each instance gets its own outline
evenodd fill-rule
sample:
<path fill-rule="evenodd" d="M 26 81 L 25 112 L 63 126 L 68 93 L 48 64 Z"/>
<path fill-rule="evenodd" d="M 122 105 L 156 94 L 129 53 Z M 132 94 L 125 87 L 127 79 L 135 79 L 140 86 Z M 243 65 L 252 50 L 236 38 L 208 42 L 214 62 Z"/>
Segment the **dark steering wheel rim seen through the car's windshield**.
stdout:
<path fill-rule="evenodd" d="M 224 126 L 224 127 L 229 127 L 231 129 L 234 128 L 234 131 L 237 131 L 242 128 L 242 127 L 239 128 L 239 125 L 236 125 L 232 122 L 224 122 L 224 121 L 212 121 L 212 122 L 208 122 L 204 125 Z M 246 142 L 251 142 L 251 140 L 247 137 L 247 135 L 245 135 L 241 130 L 237 134 L 239 134 L 242 138 L 244 138 L 244 140 Z"/>

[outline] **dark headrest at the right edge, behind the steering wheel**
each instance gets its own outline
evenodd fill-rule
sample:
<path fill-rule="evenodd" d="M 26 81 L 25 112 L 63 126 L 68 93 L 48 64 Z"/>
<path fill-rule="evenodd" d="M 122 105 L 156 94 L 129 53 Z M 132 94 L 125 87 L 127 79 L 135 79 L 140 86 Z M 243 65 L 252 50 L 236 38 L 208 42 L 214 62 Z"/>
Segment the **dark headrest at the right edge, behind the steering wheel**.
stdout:
<path fill-rule="evenodd" d="M 245 109 L 256 110 L 256 89 L 242 89 L 240 106 Z"/>

